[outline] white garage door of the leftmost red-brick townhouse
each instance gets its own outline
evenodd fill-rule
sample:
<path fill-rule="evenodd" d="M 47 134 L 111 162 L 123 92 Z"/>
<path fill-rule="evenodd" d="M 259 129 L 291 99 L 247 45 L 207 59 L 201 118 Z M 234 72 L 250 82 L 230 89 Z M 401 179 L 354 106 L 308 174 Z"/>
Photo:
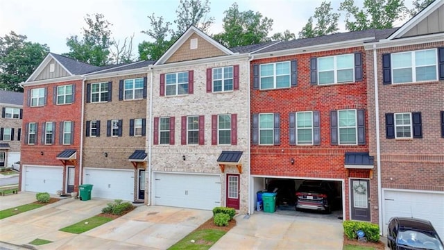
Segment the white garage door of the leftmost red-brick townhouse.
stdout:
<path fill-rule="evenodd" d="M 63 187 L 63 167 L 24 166 L 22 190 L 56 194 Z"/>

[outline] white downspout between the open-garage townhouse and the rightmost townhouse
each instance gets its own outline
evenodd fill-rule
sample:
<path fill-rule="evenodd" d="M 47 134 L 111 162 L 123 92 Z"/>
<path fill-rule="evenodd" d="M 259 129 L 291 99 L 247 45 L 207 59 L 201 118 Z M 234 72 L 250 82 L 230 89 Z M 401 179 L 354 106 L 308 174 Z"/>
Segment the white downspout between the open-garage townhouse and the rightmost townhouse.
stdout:
<path fill-rule="evenodd" d="M 373 76 L 375 78 L 375 126 L 376 126 L 376 165 L 377 165 L 377 202 L 379 212 L 379 235 L 382 235 L 382 190 L 381 190 L 381 144 L 379 142 L 379 94 L 377 85 L 377 50 L 373 44 Z"/>

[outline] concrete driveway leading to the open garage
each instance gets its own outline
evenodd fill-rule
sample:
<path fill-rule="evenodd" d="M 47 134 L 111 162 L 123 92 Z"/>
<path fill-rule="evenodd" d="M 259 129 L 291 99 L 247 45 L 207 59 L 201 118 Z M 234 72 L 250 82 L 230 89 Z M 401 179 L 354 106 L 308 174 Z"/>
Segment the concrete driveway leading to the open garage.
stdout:
<path fill-rule="evenodd" d="M 247 216 L 248 217 L 248 216 Z M 235 217 L 232 228 L 211 248 L 342 250 L 342 220 L 255 213 Z"/>

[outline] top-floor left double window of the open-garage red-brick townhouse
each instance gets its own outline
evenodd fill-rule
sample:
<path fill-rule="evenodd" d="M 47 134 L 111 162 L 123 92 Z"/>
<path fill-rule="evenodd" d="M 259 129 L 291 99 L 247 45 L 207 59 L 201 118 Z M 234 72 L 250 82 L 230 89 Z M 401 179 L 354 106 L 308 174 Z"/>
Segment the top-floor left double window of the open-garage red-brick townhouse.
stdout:
<path fill-rule="evenodd" d="M 260 89 L 290 88 L 290 62 L 260 65 Z"/>

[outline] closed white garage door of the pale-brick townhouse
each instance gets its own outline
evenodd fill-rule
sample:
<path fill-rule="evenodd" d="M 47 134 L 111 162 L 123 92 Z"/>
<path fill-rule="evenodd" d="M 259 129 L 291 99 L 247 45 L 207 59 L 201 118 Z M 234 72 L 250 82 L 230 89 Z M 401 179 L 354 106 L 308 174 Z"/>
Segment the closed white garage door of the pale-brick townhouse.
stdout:
<path fill-rule="evenodd" d="M 221 206 L 221 177 L 209 174 L 154 174 L 154 203 L 212 210 Z"/>

